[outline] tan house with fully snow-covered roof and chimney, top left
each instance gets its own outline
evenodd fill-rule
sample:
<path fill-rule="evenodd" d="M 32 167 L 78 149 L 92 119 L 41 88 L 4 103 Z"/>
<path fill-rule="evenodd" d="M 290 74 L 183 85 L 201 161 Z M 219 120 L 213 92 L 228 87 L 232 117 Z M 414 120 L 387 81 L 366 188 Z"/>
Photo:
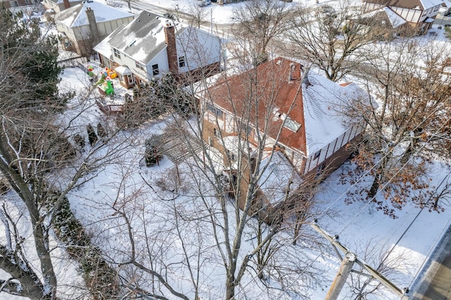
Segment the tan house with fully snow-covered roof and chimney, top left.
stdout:
<path fill-rule="evenodd" d="M 130 23 L 134 17 L 97 1 L 83 1 L 56 13 L 54 20 L 64 49 L 89 56 L 97 43 L 116 28 Z"/>

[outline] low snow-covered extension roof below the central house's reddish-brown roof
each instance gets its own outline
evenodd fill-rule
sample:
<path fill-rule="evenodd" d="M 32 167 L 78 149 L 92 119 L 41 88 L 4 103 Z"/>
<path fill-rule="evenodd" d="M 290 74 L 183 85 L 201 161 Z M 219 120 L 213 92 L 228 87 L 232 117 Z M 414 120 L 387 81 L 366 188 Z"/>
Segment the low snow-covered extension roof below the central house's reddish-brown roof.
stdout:
<path fill-rule="evenodd" d="M 287 194 L 290 195 L 302 183 L 296 169 L 280 151 L 274 152 L 272 157 L 263 158 L 260 170 L 265 166 L 258 184 L 270 204 L 283 201 Z"/>

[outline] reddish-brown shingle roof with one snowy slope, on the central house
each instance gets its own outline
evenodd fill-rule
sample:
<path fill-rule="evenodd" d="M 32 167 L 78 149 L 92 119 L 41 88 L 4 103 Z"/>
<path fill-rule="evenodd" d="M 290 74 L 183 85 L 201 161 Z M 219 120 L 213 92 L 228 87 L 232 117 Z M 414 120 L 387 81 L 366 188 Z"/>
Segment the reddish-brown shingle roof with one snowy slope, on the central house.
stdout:
<path fill-rule="evenodd" d="M 338 111 L 345 101 L 365 93 L 354 84 L 341 86 L 311 72 L 307 80 L 301 80 L 301 75 L 299 63 L 276 58 L 221 80 L 208 88 L 209 97 L 239 118 L 246 115 L 246 102 L 252 101 L 249 122 L 259 128 L 268 126 L 273 139 L 285 120 L 278 142 L 309 156 L 347 130 Z"/>

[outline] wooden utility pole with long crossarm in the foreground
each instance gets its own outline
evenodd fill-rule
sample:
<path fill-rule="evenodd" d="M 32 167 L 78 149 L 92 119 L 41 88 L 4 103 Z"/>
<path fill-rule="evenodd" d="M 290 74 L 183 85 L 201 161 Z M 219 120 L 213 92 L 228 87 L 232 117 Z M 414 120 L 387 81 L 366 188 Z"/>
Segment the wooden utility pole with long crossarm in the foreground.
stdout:
<path fill-rule="evenodd" d="M 342 287 L 345 285 L 347 276 L 350 272 L 352 272 L 352 265 L 354 263 L 357 263 L 360 265 L 366 272 L 369 274 L 362 274 L 369 277 L 373 277 L 379 282 L 381 282 L 385 287 L 390 289 L 390 291 L 397 294 L 397 296 L 400 296 L 401 299 L 408 299 L 407 293 L 409 292 L 409 289 L 407 287 L 404 287 L 404 289 L 400 289 L 396 285 L 393 284 L 393 282 L 390 282 L 387 278 L 385 278 L 381 273 L 378 273 L 377 270 L 374 270 L 371 268 L 370 265 L 365 263 L 362 259 L 357 257 L 356 254 L 353 254 L 350 252 L 345 246 L 343 246 L 340 242 L 338 242 L 338 236 L 332 237 L 329 235 L 326 231 L 324 231 L 319 225 L 317 224 L 318 221 L 314 220 L 312 223 L 310 223 L 311 227 L 314 228 L 317 232 L 319 232 L 320 235 L 328 239 L 328 241 L 332 244 L 333 248 L 337 252 L 338 256 L 340 257 L 340 260 L 342 260 L 342 264 L 340 266 L 340 270 L 338 270 L 337 276 L 335 277 L 335 280 L 333 280 L 332 285 L 330 286 L 330 289 L 326 295 L 326 300 L 335 300 L 338 299 L 338 295 L 340 295 Z M 342 258 L 340 256 L 339 251 L 340 250 L 343 254 L 345 254 L 345 257 Z M 357 271 L 354 271 L 357 272 Z"/>

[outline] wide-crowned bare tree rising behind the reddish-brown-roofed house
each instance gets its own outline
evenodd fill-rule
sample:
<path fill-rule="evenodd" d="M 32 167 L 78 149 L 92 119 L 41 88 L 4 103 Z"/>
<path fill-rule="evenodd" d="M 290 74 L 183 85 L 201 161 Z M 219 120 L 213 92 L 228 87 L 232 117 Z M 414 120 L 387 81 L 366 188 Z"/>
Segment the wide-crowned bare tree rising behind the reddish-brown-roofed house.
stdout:
<path fill-rule="evenodd" d="M 390 36 L 395 30 L 378 26 L 375 19 L 365 17 L 359 6 L 341 1 L 340 7 L 326 4 L 299 7 L 292 13 L 286 37 L 288 54 L 317 65 L 326 77 L 338 81 L 355 70 L 365 56 L 362 47 Z"/>

